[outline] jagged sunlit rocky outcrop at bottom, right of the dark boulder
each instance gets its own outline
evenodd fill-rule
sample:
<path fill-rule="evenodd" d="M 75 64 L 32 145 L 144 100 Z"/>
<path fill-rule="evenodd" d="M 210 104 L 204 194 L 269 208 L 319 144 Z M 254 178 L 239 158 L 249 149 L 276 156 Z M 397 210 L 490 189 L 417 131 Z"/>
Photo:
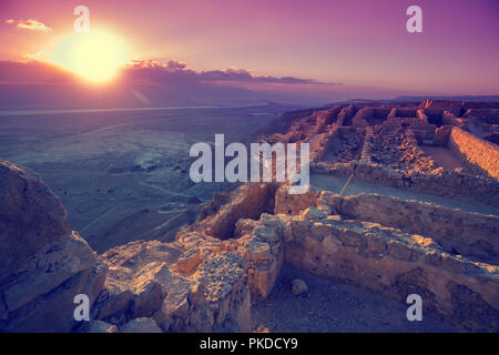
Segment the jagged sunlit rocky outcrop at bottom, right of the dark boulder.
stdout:
<path fill-rule="evenodd" d="M 251 329 L 241 255 L 210 236 L 132 242 L 101 255 L 110 271 L 96 317 L 119 328 L 140 317 L 163 332 Z"/>

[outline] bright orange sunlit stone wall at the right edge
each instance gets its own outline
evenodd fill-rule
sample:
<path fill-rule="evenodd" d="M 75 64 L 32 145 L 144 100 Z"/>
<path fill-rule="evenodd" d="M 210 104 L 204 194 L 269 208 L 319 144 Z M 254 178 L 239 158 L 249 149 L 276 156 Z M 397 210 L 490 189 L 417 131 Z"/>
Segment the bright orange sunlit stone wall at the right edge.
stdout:
<path fill-rule="evenodd" d="M 452 128 L 448 145 L 477 172 L 499 180 L 499 148 L 459 128 Z"/>

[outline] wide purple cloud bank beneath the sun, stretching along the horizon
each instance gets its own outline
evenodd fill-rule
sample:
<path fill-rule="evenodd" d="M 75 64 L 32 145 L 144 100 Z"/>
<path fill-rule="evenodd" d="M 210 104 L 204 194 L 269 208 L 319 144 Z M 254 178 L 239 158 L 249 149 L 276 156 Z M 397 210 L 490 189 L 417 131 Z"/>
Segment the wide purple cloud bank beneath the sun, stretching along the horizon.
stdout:
<path fill-rule="evenodd" d="M 410 94 L 398 90 L 256 75 L 244 69 L 197 72 L 179 61 L 135 61 L 106 85 L 38 60 L 0 61 L 0 110 L 163 105 L 252 105 L 274 101 L 320 105 L 353 98 Z"/>

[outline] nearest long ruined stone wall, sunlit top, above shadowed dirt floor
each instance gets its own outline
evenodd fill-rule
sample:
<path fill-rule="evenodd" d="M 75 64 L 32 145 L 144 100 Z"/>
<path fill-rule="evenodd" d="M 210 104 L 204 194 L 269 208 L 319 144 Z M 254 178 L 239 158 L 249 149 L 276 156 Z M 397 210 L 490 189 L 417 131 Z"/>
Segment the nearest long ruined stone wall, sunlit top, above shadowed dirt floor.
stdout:
<path fill-rule="evenodd" d="M 416 293 L 428 316 L 468 331 L 499 331 L 498 266 L 454 256 L 420 235 L 316 209 L 278 216 L 286 263 L 399 302 Z"/>

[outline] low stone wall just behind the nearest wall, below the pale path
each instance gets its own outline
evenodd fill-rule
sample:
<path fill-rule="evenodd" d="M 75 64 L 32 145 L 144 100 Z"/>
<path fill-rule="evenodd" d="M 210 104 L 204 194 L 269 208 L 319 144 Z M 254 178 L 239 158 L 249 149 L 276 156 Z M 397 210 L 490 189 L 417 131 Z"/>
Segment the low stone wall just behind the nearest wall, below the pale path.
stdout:
<path fill-rule="evenodd" d="M 499 263 L 498 216 L 378 194 L 340 196 L 310 189 L 306 194 L 291 195 L 284 187 L 277 191 L 275 214 L 296 215 L 307 207 L 328 209 L 348 220 L 376 222 L 425 235 L 454 254 Z"/>

